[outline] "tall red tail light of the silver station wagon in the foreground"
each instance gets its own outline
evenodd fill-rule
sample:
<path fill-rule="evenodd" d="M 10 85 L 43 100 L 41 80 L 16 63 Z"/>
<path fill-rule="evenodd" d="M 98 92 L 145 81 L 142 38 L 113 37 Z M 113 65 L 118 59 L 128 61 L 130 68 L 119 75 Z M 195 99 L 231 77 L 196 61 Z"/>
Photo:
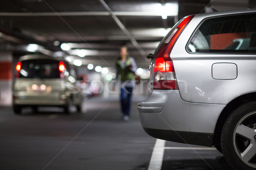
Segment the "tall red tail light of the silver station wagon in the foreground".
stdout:
<path fill-rule="evenodd" d="M 155 90 L 178 90 L 177 79 L 170 53 L 180 34 L 195 15 L 186 17 L 166 39 L 154 66 L 154 89 Z"/>

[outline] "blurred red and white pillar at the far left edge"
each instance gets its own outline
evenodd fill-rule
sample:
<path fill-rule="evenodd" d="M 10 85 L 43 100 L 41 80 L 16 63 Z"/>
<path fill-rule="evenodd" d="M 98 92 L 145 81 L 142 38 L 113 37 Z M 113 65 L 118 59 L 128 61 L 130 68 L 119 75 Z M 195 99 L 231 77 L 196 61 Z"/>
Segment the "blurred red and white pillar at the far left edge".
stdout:
<path fill-rule="evenodd" d="M 12 52 L 0 51 L 0 106 L 12 105 Z"/>

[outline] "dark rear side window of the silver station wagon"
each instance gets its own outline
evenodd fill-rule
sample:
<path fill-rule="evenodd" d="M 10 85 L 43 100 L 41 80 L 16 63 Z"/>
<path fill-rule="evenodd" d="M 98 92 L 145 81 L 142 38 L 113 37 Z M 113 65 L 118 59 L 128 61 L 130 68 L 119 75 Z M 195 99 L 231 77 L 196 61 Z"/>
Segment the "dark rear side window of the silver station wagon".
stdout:
<path fill-rule="evenodd" d="M 204 20 L 187 49 L 190 53 L 256 53 L 256 14 Z"/>

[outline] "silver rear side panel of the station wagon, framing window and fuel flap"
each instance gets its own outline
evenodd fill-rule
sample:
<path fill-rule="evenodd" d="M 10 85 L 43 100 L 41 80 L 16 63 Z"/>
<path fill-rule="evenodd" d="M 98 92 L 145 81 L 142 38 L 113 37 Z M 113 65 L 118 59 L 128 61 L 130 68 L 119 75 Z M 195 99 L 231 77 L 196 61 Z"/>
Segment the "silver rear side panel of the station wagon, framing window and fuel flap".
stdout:
<path fill-rule="evenodd" d="M 255 13 L 253 9 L 247 11 Z M 242 10 L 196 15 L 175 43 L 170 56 L 174 63 L 180 96 L 183 100 L 197 103 L 227 104 L 238 96 L 256 91 L 251 85 L 252 82 L 256 82 L 254 76 L 256 54 L 191 54 L 186 50 L 184 43 L 189 42 L 198 25 L 206 18 L 234 13 L 246 14 Z M 212 77 L 212 65 L 220 62 L 237 65 L 237 77 L 214 79 Z M 223 74 L 226 72 L 227 70 L 223 70 Z"/>

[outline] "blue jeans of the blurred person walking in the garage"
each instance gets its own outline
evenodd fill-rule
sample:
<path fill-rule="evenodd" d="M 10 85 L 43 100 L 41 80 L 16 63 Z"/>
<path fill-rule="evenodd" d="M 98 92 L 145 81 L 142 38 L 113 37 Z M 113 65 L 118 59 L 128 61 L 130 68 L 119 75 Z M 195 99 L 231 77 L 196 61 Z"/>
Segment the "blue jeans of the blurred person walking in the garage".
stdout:
<path fill-rule="evenodd" d="M 130 115 L 132 87 L 121 88 L 121 107 L 124 115 Z"/>

